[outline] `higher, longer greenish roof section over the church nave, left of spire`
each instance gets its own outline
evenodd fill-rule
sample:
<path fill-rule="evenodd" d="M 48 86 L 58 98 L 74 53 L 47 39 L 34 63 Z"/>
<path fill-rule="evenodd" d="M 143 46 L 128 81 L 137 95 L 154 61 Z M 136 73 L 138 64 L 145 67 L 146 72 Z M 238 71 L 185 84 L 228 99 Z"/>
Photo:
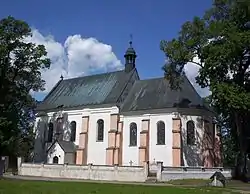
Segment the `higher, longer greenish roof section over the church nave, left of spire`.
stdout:
<path fill-rule="evenodd" d="M 124 70 L 61 80 L 37 107 L 38 111 L 115 104 L 136 70 Z"/>

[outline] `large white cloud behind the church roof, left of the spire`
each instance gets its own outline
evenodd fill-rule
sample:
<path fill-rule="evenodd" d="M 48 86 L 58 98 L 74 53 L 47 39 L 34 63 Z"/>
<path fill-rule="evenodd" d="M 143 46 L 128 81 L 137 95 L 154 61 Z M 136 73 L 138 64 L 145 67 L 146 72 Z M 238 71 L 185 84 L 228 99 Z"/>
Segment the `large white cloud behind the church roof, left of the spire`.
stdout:
<path fill-rule="evenodd" d="M 59 81 L 61 74 L 65 78 L 71 78 L 122 68 L 112 47 L 95 38 L 73 35 L 61 44 L 53 36 L 43 36 L 34 29 L 32 37 L 28 37 L 27 41 L 44 45 L 48 52 L 47 56 L 51 59 L 50 69 L 42 72 L 42 77 L 46 81 L 44 93 L 51 90 Z"/>

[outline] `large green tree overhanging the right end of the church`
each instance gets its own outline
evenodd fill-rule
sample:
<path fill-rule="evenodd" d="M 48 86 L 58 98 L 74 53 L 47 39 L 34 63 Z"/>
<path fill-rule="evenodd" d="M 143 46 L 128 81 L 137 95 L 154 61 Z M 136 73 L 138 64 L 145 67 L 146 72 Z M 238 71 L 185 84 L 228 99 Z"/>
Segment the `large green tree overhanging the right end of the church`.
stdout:
<path fill-rule="evenodd" d="M 241 174 L 250 137 L 249 21 L 249 0 L 214 0 L 203 17 L 184 23 L 178 38 L 160 44 L 172 89 L 180 89 L 187 63 L 200 67 L 196 82 L 210 88 L 212 105 L 236 134 Z"/>

